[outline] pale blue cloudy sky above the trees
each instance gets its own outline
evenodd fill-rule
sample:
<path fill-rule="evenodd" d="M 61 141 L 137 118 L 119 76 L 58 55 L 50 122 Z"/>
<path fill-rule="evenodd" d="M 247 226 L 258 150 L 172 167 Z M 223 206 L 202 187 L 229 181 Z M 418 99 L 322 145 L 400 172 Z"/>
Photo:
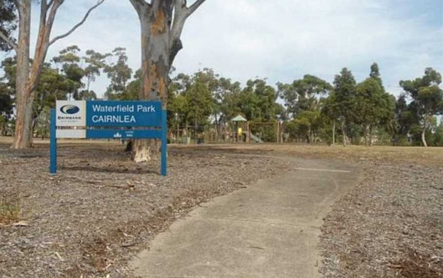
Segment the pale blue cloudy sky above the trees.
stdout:
<path fill-rule="evenodd" d="M 53 36 L 79 21 L 95 0 L 65 3 Z M 33 8 L 35 41 L 38 8 Z M 48 59 L 73 44 L 99 52 L 125 47 L 135 70 L 139 33 L 129 0 L 107 0 L 73 35 L 51 46 Z M 377 62 L 386 89 L 398 94 L 399 80 L 422 76 L 426 67 L 443 73 L 443 1 L 207 0 L 188 19 L 182 41 L 177 72 L 209 67 L 243 84 L 259 76 L 274 85 L 304 74 L 332 82 L 348 67 L 359 82 Z M 100 77 L 92 89 L 101 95 L 107 85 Z"/>

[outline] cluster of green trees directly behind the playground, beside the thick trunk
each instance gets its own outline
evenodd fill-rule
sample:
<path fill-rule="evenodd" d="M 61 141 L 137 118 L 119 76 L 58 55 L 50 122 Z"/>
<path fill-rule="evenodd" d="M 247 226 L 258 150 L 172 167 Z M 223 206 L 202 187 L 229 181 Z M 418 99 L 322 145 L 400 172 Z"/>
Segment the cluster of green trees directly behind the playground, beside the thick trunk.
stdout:
<path fill-rule="evenodd" d="M 284 109 L 276 103 L 277 92 L 266 80 L 249 80 L 245 88 L 211 69 L 192 76 L 180 73 L 170 85 L 168 112 L 174 125 L 205 125 L 211 121 L 230 124 L 241 114 L 249 121 L 275 121 Z M 175 118 L 175 114 L 179 118 Z M 174 116 L 172 116 L 174 115 Z"/>

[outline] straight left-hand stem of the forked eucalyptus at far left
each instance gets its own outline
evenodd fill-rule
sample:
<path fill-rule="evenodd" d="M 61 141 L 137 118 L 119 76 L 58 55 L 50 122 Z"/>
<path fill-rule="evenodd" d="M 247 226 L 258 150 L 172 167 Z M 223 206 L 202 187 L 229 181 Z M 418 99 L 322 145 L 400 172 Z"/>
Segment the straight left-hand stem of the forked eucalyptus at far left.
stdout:
<path fill-rule="evenodd" d="M 24 1 L 19 9 L 17 69 L 16 69 L 16 120 L 15 137 L 11 148 L 31 147 L 33 95 L 29 84 L 29 44 L 31 30 L 31 2 Z"/>

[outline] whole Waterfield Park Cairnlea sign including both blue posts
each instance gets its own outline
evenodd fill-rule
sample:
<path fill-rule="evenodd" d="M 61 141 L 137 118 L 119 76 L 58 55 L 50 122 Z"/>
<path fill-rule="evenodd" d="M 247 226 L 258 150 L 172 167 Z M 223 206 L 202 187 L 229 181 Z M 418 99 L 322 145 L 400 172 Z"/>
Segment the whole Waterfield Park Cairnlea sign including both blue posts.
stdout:
<path fill-rule="evenodd" d="M 86 109 L 82 105 L 61 106 L 59 111 L 51 109 L 51 148 L 50 172 L 57 172 L 57 138 L 71 137 L 88 139 L 159 139 L 162 141 L 162 175 L 167 174 L 167 112 L 162 109 L 161 102 L 116 102 L 116 101 L 87 101 Z M 66 109 L 68 107 L 70 109 Z M 73 113 L 73 112 L 75 113 Z M 57 113 L 59 115 L 57 115 Z M 69 115 L 65 115 L 69 114 Z M 57 123 L 67 121 L 82 121 L 86 118 L 86 132 L 77 129 L 60 129 L 57 133 Z M 83 123 L 85 123 L 83 122 Z M 67 126 L 67 125 L 62 125 Z M 78 135 L 84 134 L 84 135 Z M 82 136 L 82 137 L 80 137 Z"/>

